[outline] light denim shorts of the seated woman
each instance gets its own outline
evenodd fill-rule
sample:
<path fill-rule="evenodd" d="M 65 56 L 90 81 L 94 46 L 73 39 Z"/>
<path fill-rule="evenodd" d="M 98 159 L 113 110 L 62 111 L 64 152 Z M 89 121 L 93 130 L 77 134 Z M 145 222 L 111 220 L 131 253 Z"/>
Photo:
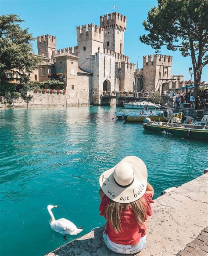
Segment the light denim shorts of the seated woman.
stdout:
<path fill-rule="evenodd" d="M 121 253 L 121 254 L 134 254 L 140 252 L 146 245 L 146 235 L 143 236 L 143 238 L 140 239 L 139 243 L 137 245 L 131 246 L 131 245 L 120 245 L 112 242 L 108 235 L 103 233 L 103 238 L 106 246 L 108 249 L 110 249 L 112 252 L 115 253 Z"/>

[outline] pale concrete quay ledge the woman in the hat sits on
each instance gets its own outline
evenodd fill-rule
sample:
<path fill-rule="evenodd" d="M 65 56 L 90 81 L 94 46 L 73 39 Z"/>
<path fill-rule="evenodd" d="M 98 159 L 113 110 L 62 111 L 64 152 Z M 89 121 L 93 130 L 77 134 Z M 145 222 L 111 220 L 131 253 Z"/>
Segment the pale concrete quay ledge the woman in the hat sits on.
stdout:
<path fill-rule="evenodd" d="M 153 216 L 148 221 L 147 246 L 138 255 L 177 255 L 208 226 L 207 181 L 208 173 L 154 200 Z M 94 229 L 47 256 L 120 255 L 106 248 L 103 230 L 104 227 Z"/>

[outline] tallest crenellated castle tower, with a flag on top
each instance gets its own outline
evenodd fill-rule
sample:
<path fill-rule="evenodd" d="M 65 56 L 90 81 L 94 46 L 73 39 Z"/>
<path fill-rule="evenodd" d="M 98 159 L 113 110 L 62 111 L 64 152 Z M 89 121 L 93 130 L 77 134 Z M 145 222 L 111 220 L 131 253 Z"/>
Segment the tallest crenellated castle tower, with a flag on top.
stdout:
<path fill-rule="evenodd" d="M 102 15 L 100 27 L 104 29 L 104 48 L 123 54 L 126 16 L 118 12 Z"/>

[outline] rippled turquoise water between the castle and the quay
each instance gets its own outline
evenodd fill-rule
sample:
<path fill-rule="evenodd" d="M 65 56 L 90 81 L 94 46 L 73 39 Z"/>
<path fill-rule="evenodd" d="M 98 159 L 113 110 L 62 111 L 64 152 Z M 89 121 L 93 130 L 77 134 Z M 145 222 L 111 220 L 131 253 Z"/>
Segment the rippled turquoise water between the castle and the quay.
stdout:
<path fill-rule="evenodd" d="M 147 133 L 114 113 L 110 107 L 0 110 L 1 256 L 41 256 L 65 243 L 49 226 L 48 204 L 59 205 L 55 218 L 84 227 L 82 235 L 104 224 L 98 178 L 127 155 L 146 163 L 155 197 L 208 166 L 207 143 Z"/>

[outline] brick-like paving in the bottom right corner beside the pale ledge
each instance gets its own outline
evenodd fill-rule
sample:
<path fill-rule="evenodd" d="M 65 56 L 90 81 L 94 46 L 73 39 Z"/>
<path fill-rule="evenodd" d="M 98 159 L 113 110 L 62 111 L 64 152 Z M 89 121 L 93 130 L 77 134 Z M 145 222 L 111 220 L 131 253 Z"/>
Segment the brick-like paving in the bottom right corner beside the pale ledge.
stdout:
<path fill-rule="evenodd" d="M 192 242 L 186 245 L 186 248 L 176 256 L 207 256 L 208 255 L 208 227 L 204 228 Z"/>

